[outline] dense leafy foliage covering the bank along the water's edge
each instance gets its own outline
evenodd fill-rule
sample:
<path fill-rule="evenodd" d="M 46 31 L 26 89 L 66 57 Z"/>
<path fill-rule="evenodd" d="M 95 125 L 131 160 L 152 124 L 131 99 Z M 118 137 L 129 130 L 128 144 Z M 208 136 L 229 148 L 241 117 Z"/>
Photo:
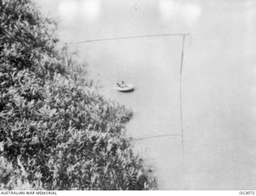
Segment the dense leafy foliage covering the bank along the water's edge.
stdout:
<path fill-rule="evenodd" d="M 0 5 L 1 190 L 154 189 L 123 134 L 132 112 L 86 83 L 55 29 L 30 0 Z"/>

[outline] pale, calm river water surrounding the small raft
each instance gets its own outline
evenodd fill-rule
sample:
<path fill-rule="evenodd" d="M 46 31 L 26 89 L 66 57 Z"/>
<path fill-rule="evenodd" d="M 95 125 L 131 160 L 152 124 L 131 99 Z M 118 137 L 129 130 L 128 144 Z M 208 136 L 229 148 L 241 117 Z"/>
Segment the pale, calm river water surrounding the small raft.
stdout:
<path fill-rule="evenodd" d="M 256 189 L 256 2 L 36 0 L 102 93 L 134 111 L 127 135 L 161 190 Z M 162 33 L 182 37 L 140 37 Z M 135 85 L 116 92 L 116 82 Z M 137 140 L 136 140 L 137 139 Z"/>

